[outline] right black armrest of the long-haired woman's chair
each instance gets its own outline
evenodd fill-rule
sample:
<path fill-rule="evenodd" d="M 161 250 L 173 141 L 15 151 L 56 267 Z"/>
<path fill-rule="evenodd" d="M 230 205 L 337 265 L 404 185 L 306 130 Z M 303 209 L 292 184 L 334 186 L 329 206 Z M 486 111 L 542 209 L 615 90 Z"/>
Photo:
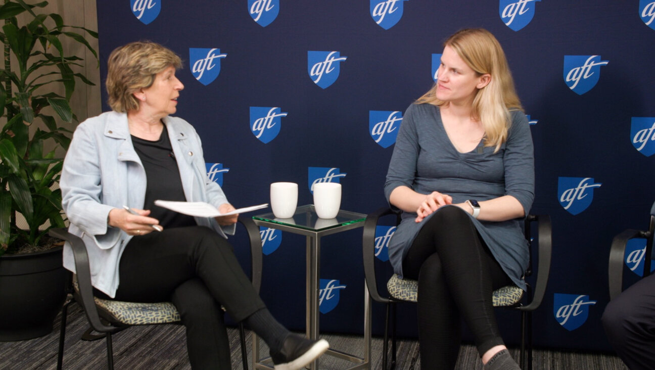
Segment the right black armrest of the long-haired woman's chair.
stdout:
<path fill-rule="evenodd" d="M 550 215 L 528 215 L 528 221 L 537 223 L 538 266 L 536 283 L 532 301 L 527 306 L 521 306 L 522 311 L 533 311 L 541 305 L 546 294 L 548 276 L 550 275 L 550 260 L 553 250 L 553 227 Z"/>

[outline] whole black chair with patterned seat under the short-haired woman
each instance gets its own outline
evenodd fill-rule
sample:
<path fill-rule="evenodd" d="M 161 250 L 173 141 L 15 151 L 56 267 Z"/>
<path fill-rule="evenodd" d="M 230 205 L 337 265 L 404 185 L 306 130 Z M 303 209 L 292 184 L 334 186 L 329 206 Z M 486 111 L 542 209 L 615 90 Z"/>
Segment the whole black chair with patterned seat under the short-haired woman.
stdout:
<path fill-rule="evenodd" d="M 238 221 L 244 225 L 250 237 L 250 248 L 252 256 L 252 284 L 259 292 L 261 287 L 261 238 L 259 228 L 248 217 L 239 217 Z M 81 238 L 69 233 L 66 229 L 51 229 L 50 236 L 67 240 L 71 244 L 75 257 L 75 276 L 71 274 L 69 284 L 69 297 L 62 308 L 62 327 L 59 335 L 59 353 L 57 358 L 57 369 L 62 369 L 64 360 L 64 337 L 66 330 L 66 314 L 68 305 L 77 302 L 83 308 L 86 318 L 91 326 L 84 333 L 82 339 L 93 341 L 102 339 L 107 342 L 107 365 L 113 369 L 113 348 L 111 335 L 118 333 L 132 325 L 153 325 L 153 324 L 179 324 L 179 313 L 170 302 L 160 303 L 135 303 L 112 301 L 94 297 L 91 285 L 91 273 L 88 265 L 88 254 Z M 91 331 L 102 333 L 92 335 Z M 246 333 L 243 324 L 239 324 L 241 340 L 241 356 L 244 369 L 248 369 L 248 354 L 246 352 Z"/>

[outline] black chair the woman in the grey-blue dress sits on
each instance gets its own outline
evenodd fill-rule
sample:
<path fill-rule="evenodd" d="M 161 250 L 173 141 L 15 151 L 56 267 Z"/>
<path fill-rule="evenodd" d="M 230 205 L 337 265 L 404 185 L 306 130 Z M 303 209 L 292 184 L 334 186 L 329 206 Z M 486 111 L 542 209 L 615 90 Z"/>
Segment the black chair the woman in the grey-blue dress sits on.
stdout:
<path fill-rule="evenodd" d="M 392 348 L 391 367 L 396 367 L 396 303 L 417 302 L 416 280 L 400 279 L 396 274 L 388 280 L 386 293 L 380 293 L 377 287 L 377 275 L 375 273 L 375 227 L 381 217 L 386 215 L 396 216 L 396 225 L 400 223 L 400 213 L 393 212 L 389 208 L 381 208 L 377 212 L 367 215 L 364 224 L 364 236 L 362 242 L 362 253 L 364 255 L 364 274 L 366 286 L 371 298 L 386 305 L 386 318 L 384 323 L 384 344 L 383 344 L 383 369 L 387 368 L 388 332 L 389 319 L 392 320 Z M 493 304 L 495 307 L 513 308 L 521 311 L 521 359 L 520 365 L 523 369 L 532 369 L 532 312 L 539 307 L 546 292 L 548 274 L 550 273 L 550 259 L 552 254 L 552 226 L 548 215 L 528 215 L 525 219 L 525 238 L 532 244 L 531 223 L 538 225 L 538 267 L 536 271 L 536 283 L 534 290 L 528 284 L 527 294 L 516 286 L 506 286 L 494 291 Z M 533 274 L 532 248 L 530 248 L 530 263 L 525 276 Z M 382 280 L 381 280 L 382 281 Z M 527 299 L 525 297 L 527 296 Z M 524 302 L 526 301 L 526 302 Z M 527 356 L 525 356 L 527 352 Z"/>

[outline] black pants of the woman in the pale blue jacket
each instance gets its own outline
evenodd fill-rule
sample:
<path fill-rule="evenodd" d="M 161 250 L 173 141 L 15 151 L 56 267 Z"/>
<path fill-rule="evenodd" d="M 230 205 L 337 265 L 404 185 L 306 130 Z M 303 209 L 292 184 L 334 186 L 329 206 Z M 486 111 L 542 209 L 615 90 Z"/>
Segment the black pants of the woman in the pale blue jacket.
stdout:
<path fill-rule="evenodd" d="M 135 236 L 119 265 L 116 299 L 172 301 L 187 329 L 194 369 L 230 369 L 223 310 L 240 322 L 265 308 L 231 246 L 207 227 L 179 227 Z"/>

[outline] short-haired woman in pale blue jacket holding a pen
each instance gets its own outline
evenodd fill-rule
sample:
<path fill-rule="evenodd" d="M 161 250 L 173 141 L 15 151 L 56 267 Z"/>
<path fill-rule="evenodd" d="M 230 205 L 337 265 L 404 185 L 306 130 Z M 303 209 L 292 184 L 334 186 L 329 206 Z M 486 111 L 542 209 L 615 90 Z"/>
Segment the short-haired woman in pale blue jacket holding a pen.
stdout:
<path fill-rule="evenodd" d="M 181 65 L 156 43 L 111 52 L 106 86 L 113 111 L 82 122 L 64 160 L 69 232 L 84 240 L 97 295 L 172 301 L 194 369 L 231 367 L 221 306 L 269 345 L 275 369 L 301 369 L 329 344 L 290 333 L 267 310 L 226 240 L 238 215 L 191 217 L 154 206 L 165 199 L 234 210 L 206 174 L 193 126 L 170 116 L 184 88 L 175 75 Z M 67 245 L 64 267 L 75 272 Z"/>

